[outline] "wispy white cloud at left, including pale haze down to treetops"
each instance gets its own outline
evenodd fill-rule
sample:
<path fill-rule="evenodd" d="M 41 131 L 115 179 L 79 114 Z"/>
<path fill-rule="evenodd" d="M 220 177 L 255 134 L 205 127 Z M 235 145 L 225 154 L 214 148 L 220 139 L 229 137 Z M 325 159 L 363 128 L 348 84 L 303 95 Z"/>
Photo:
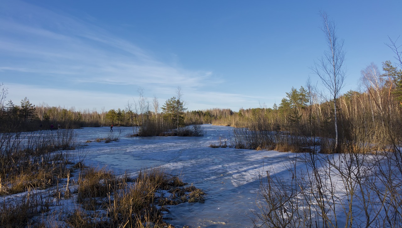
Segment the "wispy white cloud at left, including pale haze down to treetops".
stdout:
<path fill-rule="evenodd" d="M 15 90 L 9 94 L 13 100 L 22 99 L 21 94 L 34 104 L 121 108 L 137 95 L 138 87 L 148 96 L 167 99 L 178 86 L 191 100 L 191 109 L 238 107 L 239 102 L 252 106 L 258 99 L 211 92 L 211 82 L 224 86 L 212 71 L 162 62 L 96 19 L 85 21 L 18 0 L 0 1 L 7 3 L 0 8 L 0 77 L 12 85 L 10 92 Z"/>

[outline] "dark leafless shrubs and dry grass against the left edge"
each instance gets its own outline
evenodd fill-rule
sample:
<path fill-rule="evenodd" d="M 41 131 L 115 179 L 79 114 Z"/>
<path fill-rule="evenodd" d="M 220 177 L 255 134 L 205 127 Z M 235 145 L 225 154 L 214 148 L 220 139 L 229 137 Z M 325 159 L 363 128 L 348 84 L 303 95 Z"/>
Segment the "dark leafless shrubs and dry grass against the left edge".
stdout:
<path fill-rule="evenodd" d="M 3 133 L 0 135 L 0 195 L 26 191 L 27 187 L 45 189 L 68 174 L 71 164 L 67 151 L 75 147 L 75 134 Z"/>

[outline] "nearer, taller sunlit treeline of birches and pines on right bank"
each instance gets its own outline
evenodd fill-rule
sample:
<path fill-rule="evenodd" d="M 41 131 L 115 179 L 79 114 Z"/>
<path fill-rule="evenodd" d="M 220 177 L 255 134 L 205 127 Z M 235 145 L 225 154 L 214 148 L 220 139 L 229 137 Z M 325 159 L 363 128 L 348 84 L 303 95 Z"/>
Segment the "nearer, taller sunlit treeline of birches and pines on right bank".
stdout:
<path fill-rule="evenodd" d="M 213 124 L 231 125 L 239 148 L 322 153 L 393 151 L 402 141 L 402 70 L 390 61 L 383 73 L 375 64 L 361 71 L 361 91 L 336 98 L 326 96 L 308 81 L 286 93 L 272 108 L 240 109 Z M 335 146 L 334 104 L 338 146 Z M 319 147 L 318 147 L 319 146 Z"/>

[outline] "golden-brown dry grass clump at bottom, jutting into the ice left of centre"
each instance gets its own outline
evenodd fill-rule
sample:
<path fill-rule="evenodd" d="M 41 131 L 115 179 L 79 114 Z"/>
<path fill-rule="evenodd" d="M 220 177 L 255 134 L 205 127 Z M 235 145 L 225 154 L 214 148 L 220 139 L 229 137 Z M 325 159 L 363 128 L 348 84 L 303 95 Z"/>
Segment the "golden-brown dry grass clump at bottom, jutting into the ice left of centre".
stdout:
<path fill-rule="evenodd" d="M 85 168 L 78 181 L 80 207 L 70 213 L 74 227 L 172 227 L 163 221 L 165 205 L 203 202 L 195 187 L 183 187 L 179 177 L 162 168 L 139 170 L 135 178 L 117 177 L 106 168 Z M 164 191 L 169 197 L 157 192 Z M 66 220 L 66 221 L 67 221 Z"/>

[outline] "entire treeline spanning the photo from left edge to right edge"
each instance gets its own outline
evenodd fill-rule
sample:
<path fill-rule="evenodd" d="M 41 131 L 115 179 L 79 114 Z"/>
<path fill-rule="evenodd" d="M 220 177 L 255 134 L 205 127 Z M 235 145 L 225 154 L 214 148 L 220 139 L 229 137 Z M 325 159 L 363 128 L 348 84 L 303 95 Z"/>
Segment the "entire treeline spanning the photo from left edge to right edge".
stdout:
<path fill-rule="evenodd" d="M 183 127 L 212 123 L 237 127 L 235 143 L 239 148 L 306 151 L 319 145 L 321 152 L 327 153 L 392 150 L 402 139 L 402 70 L 390 61 L 384 62 L 382 69 L 381 73 L 375 64 L 367 66 L 361 71 L 361 91 L 348 91 L 336 97 L 336 102 L 308 81 L 299 89 L 292 87 L 279 105 L 238 112 L 219 108 L 188 111 L 180 91 L 162 106 L 156 97 L 149 102 L 140 91 L 139 99 L 126 107 L 101 112 L 35 106 L 25 97 L 19 106 L 2 102 L 0 129 L 34 131 L 40 126 L 49 129 L 52 124 L 55 128 L 113 124 L 133 126 L 133 135 L 139 136 L 178 135 L 180 130 L 180 134 L 191 135 L 188 131 L 194 129 Z"/>

